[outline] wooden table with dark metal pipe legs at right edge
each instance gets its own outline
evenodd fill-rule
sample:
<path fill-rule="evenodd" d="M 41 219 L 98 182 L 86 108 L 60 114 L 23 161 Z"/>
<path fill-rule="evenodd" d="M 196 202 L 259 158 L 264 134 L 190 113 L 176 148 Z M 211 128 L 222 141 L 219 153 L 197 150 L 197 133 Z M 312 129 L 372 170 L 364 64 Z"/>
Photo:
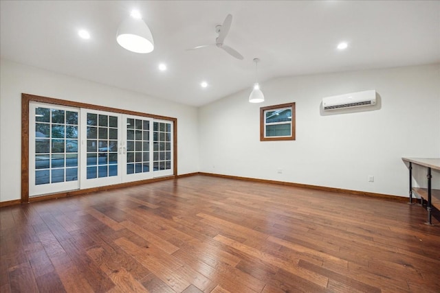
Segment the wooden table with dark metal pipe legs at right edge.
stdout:
<path fill-rule="evenodd" d="M 440 209 L 440 190 L 431 188 L 431 169 L 440 171 L 440 158 L 402 158 L 404 162 L 408 162 L 408 169 L 410 170 L 410 204 L 412 204 L 412 192 L 420 196 L 421 206 L 423 207 L 423 198 L 427 198 L 426 211 L 428 211 L 428 222 L 425 224 L 432 225 L 431 222 L 431 211 L 432 206 Z M 412 164 L 426 167 L 428 173 L 426 178 L 428 179 L 427 188 L 412 188 Z"/>

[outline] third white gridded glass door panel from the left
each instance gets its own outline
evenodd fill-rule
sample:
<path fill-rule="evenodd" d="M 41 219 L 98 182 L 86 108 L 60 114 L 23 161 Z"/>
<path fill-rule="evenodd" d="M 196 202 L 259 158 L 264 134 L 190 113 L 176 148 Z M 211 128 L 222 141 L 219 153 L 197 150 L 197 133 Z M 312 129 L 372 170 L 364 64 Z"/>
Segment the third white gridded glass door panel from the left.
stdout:
<path fill-rule="evenodd" d="M 124 167 L 122 168 L 124 182 L 153 178 L 151 168 L 151 125 L 153 119 L 123 115 L 124 135 L 122 150 Z"/>

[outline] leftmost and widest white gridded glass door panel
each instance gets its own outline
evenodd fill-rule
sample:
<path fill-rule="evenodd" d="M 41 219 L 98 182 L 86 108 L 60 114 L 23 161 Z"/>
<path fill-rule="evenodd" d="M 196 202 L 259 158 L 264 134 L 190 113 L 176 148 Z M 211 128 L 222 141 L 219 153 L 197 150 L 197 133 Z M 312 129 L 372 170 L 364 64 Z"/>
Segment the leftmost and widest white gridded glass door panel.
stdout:
<path fill-rule="evenodd" d="M 30 196 L 79 188 L 79 109 L 30 103 Z"/>

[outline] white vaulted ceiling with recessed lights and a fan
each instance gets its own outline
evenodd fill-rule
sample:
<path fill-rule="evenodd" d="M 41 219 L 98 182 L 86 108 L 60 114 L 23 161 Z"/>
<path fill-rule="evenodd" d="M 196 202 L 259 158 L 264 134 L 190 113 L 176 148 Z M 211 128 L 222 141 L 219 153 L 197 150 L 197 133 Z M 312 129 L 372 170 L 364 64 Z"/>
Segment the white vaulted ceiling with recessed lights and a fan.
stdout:
<path fill-rule="evenodd" d="M 116 43 L 133 8 L 153 33 L 150 54 Z M 259 82 L 440 62 L 440 1 L 2 0 L 0 11 L 1 58 L 192 106 L 250 92 L 256 57 Z M 186 51 L 214 43 L 227 14 L 225 45 L 244 60 L 217 47 Z M 90 40 L 78 37 L 80 28 Z M 345 51 L 336 49 L 342 40 Z M 157 69 L 160 62 L 167 71 Z"/>

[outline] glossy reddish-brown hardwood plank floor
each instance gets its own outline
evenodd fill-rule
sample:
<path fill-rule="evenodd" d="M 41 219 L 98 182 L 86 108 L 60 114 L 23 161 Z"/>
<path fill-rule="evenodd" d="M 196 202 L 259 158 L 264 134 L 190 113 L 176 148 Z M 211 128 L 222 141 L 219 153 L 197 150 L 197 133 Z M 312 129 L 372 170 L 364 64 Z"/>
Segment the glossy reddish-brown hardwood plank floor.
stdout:
<path fill-rule="evenodd" d="M 0 292 L 440 292 L 416 205 L 190 176 L 0 209 Z"/>

